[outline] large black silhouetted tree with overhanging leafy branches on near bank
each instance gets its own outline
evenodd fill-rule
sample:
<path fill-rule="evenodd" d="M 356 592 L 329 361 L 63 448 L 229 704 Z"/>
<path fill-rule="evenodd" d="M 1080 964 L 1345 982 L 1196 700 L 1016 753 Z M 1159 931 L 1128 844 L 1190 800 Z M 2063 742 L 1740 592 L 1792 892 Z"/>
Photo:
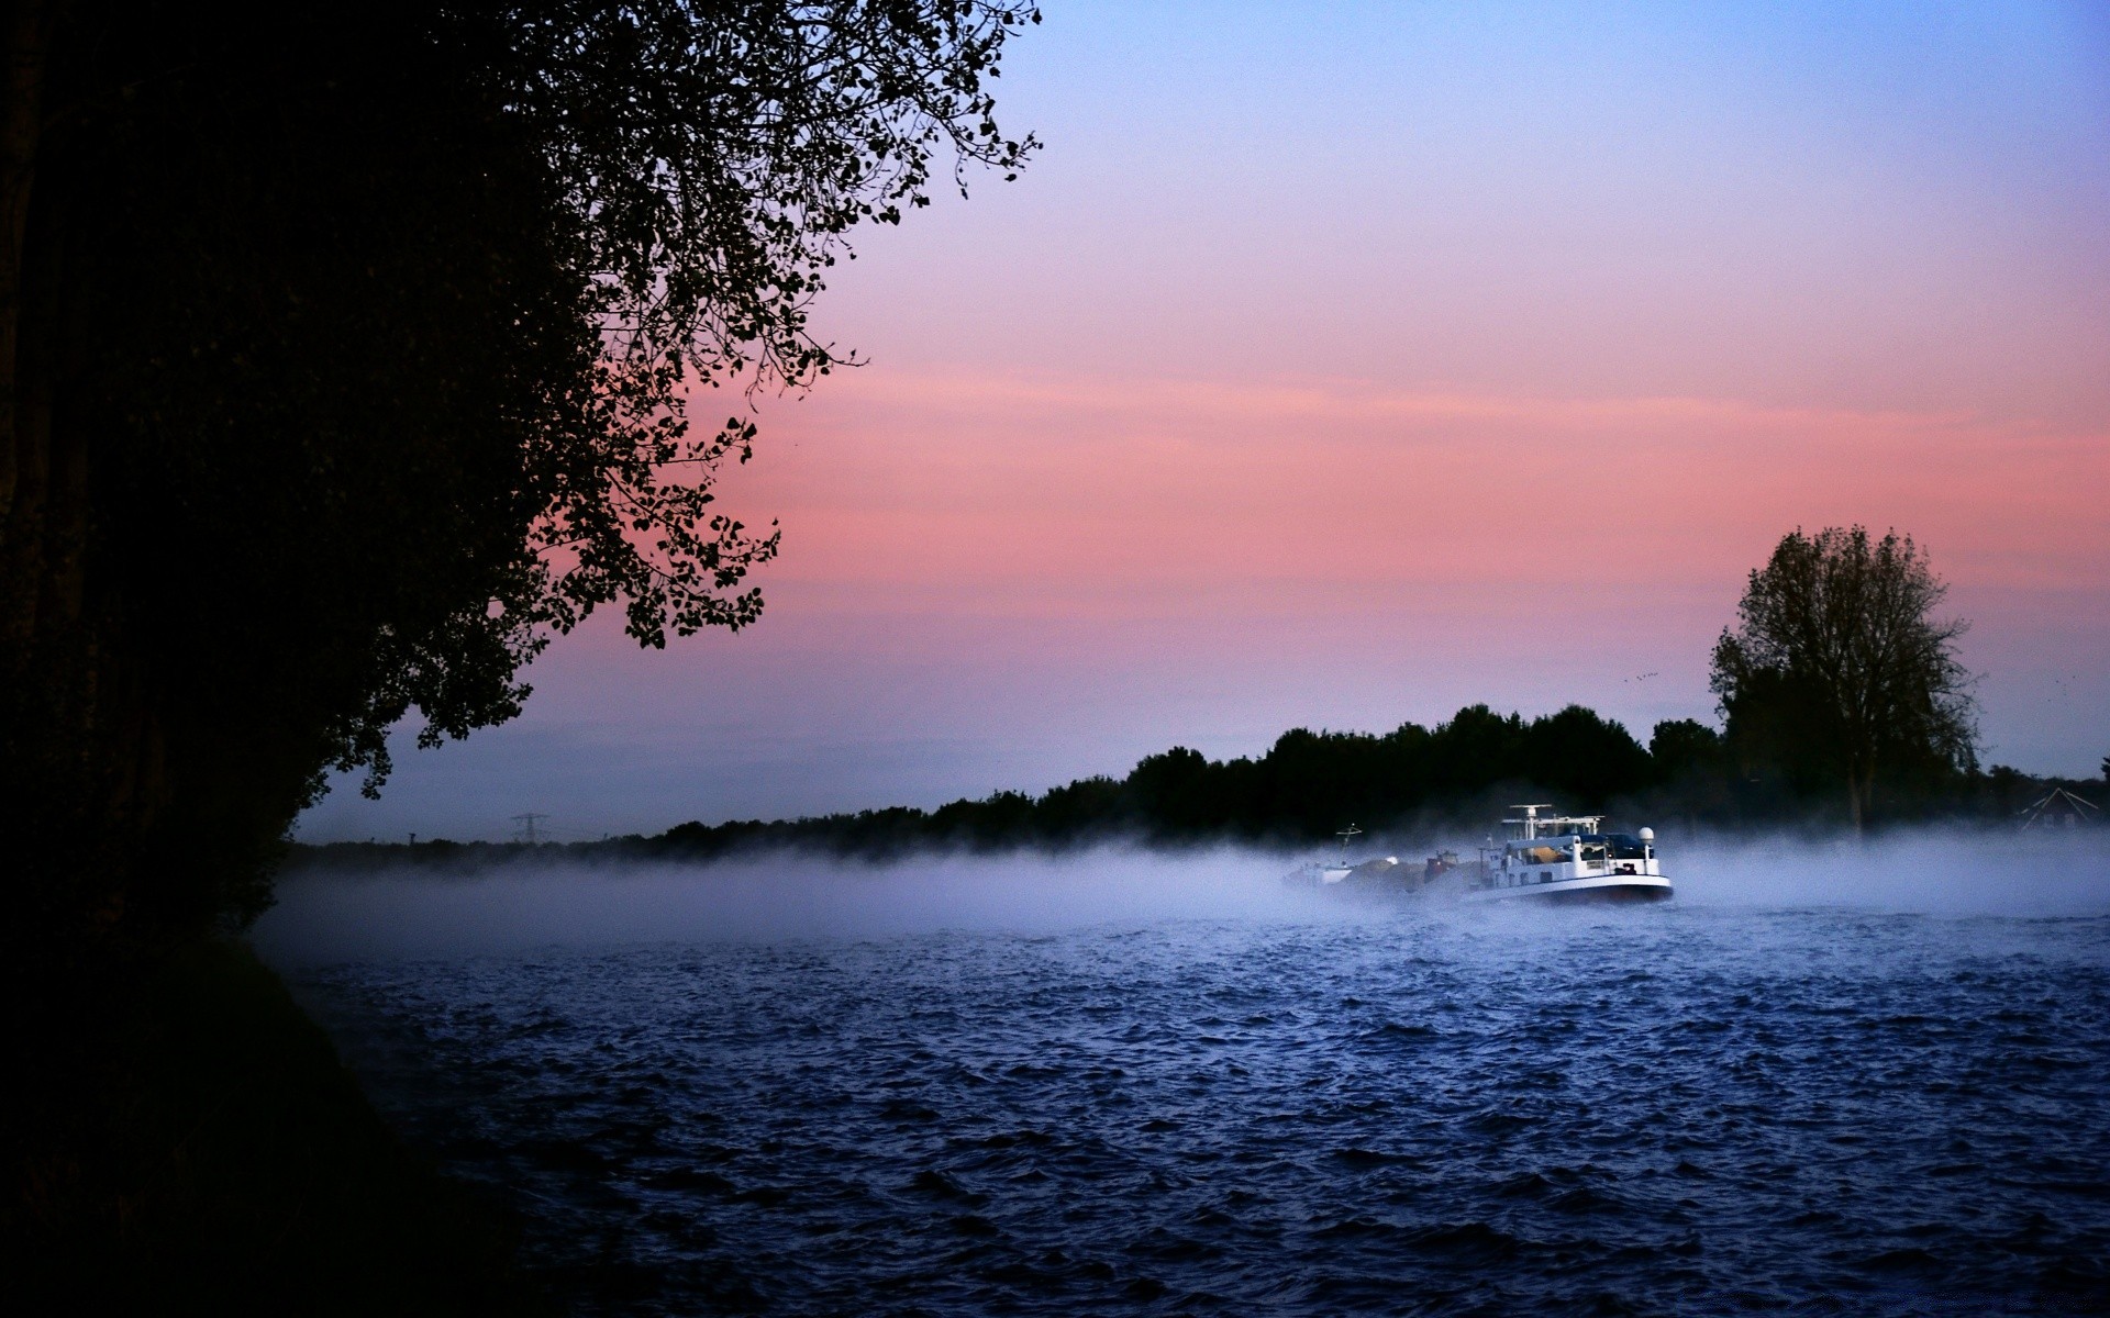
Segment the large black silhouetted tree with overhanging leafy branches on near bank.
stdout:
<path fill-rule="evenodd" d="M 264 900 L 327 768 L 519 711 L 620 603 L 743 626 L 701 390 L 838 365 L 808 306 L 933 162 L 1017 167 L 985 0 L 17 0 L 0 21 L 11 928 Z M 736 411 L 728 407 L 724 411 Z M 722 415 L 722 411 L 717 413 Z"/>

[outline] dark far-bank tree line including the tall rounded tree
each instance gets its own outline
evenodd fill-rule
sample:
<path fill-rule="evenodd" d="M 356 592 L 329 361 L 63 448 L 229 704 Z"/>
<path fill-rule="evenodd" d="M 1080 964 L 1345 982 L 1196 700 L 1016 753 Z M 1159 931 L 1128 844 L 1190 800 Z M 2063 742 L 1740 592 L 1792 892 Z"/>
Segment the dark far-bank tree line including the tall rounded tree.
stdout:
<path fill-rule="evenodd" d="M 998 791 L 937 810 L 888 808 L 795 820 L 679 825 L 656 837 L 587 844 L 589 854 L 713 858 L 808 846 L 888 856 L 931 846 L 1150 844 L 1304 846 L 1346 825 L 1365 831 L 1479 833 L 1519 799 L 1631 827 L 1713 829 L 1929 818 L 2013 818 L 2047 787 L 1979 768 L 1969 628 L 1937 618 L 1948 586 L 1910 538 L 1865 527 L 1800 527 L 1756 567 L 1711 660 L 1722 730 L 1654 725 L 1644 747 L 1623 723 L 1570 704 L 1523 719 L 1488 704 L 1435 728 L 1285 732 L 1260 757 L 1209 759 L 1173 747 L 1125 778 L 1078 778 L 1042 795 Z M 2104 759 L 2110 778 L 2110 757 Z M 392 848 L 390 848 L 392 850 Z M 464 860 L 456 844 L 422 858 Z M 310 848 L 338 860 L 363 848 Z M 369 856 L 371 858 L 371 856 Z"/>

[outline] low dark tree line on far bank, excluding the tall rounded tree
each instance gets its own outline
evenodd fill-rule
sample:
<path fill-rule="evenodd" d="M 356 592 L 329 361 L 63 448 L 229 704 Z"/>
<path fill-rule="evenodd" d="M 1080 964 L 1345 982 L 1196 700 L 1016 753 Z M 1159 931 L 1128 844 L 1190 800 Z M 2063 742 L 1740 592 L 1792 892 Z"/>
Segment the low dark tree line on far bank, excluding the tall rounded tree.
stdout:
<path fill-rule="evenodd" d="M 2110 774 L 2110 761 L 2106 761 Z M 1570 704 L 1526 719 L 1485 704 L 1424 728 L 1285 732 L 1258 757 L 1209 759 L 1188 747 L 1144 757 L 1127 776 L 1091 776 L 1040 795 L 998 791 L 935 810 L 895 806 L 787 820 L 692 820 L 658 835 L 544 844 L 325 844 L 300 865 L 371 867 L 405 860 L 475 869 L 494 858 L 553 854 L 580 860 L 715 860 L 770 848 L 895 858 L 920 850 L 1013 850 L 1142 841 L 1239 841 L 1277 848 L 1327 844 L 1346 825 L 1374 835 L 1479 837 L 1511 803 L 1553 801 L 1606 812 L 1620 827 L 1709 829 L 1850 827 L 1836 791 L 1737 755 L 1737 742 L 1696 719 L 1654 725 L 1644 747 L 1623 723 Z M 2049 787 L 1996 765 L 1888 780 L 1888 822 L 2011 820 Z"/>

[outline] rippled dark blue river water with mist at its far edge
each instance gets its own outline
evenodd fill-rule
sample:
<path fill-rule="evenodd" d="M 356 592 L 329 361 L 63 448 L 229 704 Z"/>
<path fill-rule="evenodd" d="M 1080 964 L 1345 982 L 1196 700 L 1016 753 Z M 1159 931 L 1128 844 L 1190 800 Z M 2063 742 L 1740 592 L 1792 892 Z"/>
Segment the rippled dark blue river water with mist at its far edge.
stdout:
<path fill-rule="evenodd" d="M 1530 913 L 1236 858 L 310 879 L 264 945 L 582 1314 L 2095 1312 L 2110 869 L 2059 856 L 2055 913 L 1749 854 Z"/>

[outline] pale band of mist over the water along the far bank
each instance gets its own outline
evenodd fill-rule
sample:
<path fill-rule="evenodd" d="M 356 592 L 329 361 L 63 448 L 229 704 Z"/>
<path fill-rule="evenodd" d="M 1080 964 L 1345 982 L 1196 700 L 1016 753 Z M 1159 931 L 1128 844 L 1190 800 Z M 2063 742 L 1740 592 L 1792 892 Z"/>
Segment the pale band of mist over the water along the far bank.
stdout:
<path fill-rule="evenodd" d="M 1452 844 L 1456 846 L 1456 844 Z M 2076 833 L 1703 839 L 1669 848 L 1680 907 L 1848 907 L 1924 915 L 2110 915 L 2110 844 Z M 1428 846 L 1397 846 L 1418 858 Z M 1460 848 L 1466 850 L 1466 848 Z M 1363 852 L 1357 852 L 1359 856 Z M 1469 850 L 1466 850 L 1469 854 Z M 255 930 L 285 966 L 658 941 L 1051 932 L 1163 919 L 1340 919 L 1331 894 L 1281 886 L 1293 858 L 1239 848 L 1104 848 L 865 865 L 800 852 L 717 865 L 515 860 L 475 875 L 403 867 L 302 873 Z M 1443 903 L 1431 903 L 1443 915 Z M 1513 911 L 1460 911 L 1477 922 Z"/>

